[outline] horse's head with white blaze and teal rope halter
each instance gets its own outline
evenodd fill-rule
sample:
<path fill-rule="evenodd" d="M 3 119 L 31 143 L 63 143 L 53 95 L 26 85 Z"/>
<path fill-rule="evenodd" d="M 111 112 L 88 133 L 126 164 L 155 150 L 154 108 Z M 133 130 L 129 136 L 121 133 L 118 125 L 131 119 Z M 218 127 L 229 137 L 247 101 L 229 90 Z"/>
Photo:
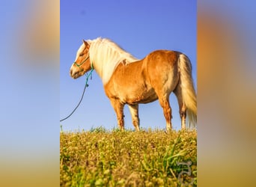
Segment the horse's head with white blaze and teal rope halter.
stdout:
<path fill-rule="evenodd" d="M 82 46 L 80 46 L 76 53 L 76 61 L 70 67 L 70 76 L 73 79 L 79 78 L 91 70 L 89 48 L 89 43 L 83 40 Z"/>

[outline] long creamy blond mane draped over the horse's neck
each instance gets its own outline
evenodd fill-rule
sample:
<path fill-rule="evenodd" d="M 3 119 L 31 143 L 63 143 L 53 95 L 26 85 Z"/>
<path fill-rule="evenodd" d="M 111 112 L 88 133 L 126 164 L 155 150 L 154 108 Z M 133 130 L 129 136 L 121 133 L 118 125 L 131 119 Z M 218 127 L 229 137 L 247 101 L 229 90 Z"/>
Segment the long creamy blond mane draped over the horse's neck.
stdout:
<path fill-rule="evenodd" d="M 125 60 L 126 64 L 138 61 L 128 52 L 124 51 L 112 40 L 98 37 L 95 40 L 87 40 L 90 44 L 89 55 L 94 69 L 103 81 L 103 85 L 109 82 L 115 68 Z"/>

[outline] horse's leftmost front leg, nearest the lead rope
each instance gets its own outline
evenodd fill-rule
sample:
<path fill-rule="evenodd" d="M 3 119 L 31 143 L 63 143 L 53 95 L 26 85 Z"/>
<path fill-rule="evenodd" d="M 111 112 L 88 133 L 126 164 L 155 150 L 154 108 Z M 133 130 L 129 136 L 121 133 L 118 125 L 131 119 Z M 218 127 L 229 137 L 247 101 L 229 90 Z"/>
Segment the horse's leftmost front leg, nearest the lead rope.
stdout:
<path fill-rule="evenodd" d="M 124 130 L 124 104 L 122 104 L 118 99 L 110 99 L 110 102 L 117 114 L 118 126 L 121 130 Z"/>

